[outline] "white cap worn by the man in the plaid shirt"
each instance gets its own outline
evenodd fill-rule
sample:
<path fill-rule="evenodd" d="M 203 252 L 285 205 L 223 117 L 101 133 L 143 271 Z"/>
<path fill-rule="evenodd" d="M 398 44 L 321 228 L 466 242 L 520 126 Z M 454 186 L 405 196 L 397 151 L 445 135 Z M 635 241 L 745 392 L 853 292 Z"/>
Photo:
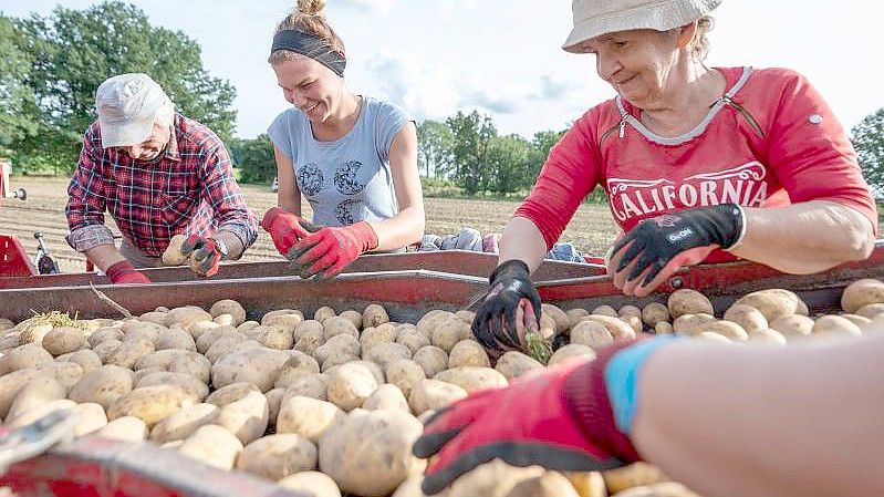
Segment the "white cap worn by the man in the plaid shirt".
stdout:
<path fill-rule="evenodd" d="M 107 79 L 95 91 L 102 147 L 137 145 L 150 135 L 157 111 L 171 103 L 166 92 L 142 73 Z"/>

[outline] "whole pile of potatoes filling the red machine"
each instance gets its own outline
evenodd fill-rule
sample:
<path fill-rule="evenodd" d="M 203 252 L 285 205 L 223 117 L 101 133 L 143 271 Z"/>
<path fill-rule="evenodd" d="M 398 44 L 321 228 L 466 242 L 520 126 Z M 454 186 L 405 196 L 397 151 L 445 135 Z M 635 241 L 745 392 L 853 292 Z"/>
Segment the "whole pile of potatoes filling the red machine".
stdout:
<path fill-rule="evenodd" d="M 643 332 L 786 345 L 884 327 L 884 283 L 860 280 L 844 312 L 811 317 L 788 290 L 747 294 L 720 318 L 694 290 L 644 309 L 563 311 L 543 304 L 542 334 L 562 338 L 549 361 L 590 361 Z M 469 392 L 544 367 L 520 352 L 496 361 L 472 336 L 474 313 L 427 312 L 417 323 L 324 307 L 260 321 L 221 300 L 209 309 L 157 308 L 126 320 L 53 325 L 0 319 L 0 416 L 21 426 L 54 410 L 79 414 L 76 435 L 150 442 L 304 495 L 412 497 L 426 462 L 410 447 L 423 420 Z M 483 465 L 445 491 L 460 496 L 694 496 L 647 464 L 602 473 Z"/>

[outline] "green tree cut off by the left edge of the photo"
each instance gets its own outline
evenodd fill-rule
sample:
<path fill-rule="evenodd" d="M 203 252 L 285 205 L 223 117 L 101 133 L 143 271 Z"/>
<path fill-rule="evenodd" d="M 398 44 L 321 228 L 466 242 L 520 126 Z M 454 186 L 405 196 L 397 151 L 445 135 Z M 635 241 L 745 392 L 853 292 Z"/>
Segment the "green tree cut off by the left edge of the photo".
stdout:
<path fill-rule="evenodd" d="M 23 37 L 11 18 L 0 14 L 0 156 L 13 155 L 12 145 L 38 130 L 34 94 L 28 86 L 33 59 L 22 50 Z"/>

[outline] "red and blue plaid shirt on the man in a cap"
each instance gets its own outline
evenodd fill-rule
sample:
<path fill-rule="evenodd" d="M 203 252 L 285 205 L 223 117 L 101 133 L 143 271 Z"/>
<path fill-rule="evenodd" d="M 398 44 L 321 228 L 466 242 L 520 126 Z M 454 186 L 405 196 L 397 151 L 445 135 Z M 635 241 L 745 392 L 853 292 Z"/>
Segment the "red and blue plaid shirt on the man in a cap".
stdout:
<path fill-rule="evenodd" d="M 148 256 L 158 257 L 174 235 L 235 234 L 243 247 L 258 237 L 258 220 L 233 179 L 223 143 L 211 130 L 175 114 L 169 145 L 158 162 L 102 148 L 95 122 L 83 137 L 80 163 L 64 209 L 77 251 L 113 244 L 104 226 L 108 211 L 119 231 Z"/>

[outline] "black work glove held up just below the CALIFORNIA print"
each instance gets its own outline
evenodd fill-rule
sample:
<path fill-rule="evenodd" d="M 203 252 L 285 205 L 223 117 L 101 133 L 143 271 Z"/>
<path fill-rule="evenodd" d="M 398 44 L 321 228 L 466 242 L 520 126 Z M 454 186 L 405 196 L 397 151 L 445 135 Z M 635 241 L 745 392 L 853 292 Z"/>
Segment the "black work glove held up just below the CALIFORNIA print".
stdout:
<path fill-rule="evenodd" d="M 609 273 L 626 294 L 644 297 L 675 271 L 730 248 L 743 230 L 736 204 L 698 207 L 645 219 L 614 244 Z"/>

